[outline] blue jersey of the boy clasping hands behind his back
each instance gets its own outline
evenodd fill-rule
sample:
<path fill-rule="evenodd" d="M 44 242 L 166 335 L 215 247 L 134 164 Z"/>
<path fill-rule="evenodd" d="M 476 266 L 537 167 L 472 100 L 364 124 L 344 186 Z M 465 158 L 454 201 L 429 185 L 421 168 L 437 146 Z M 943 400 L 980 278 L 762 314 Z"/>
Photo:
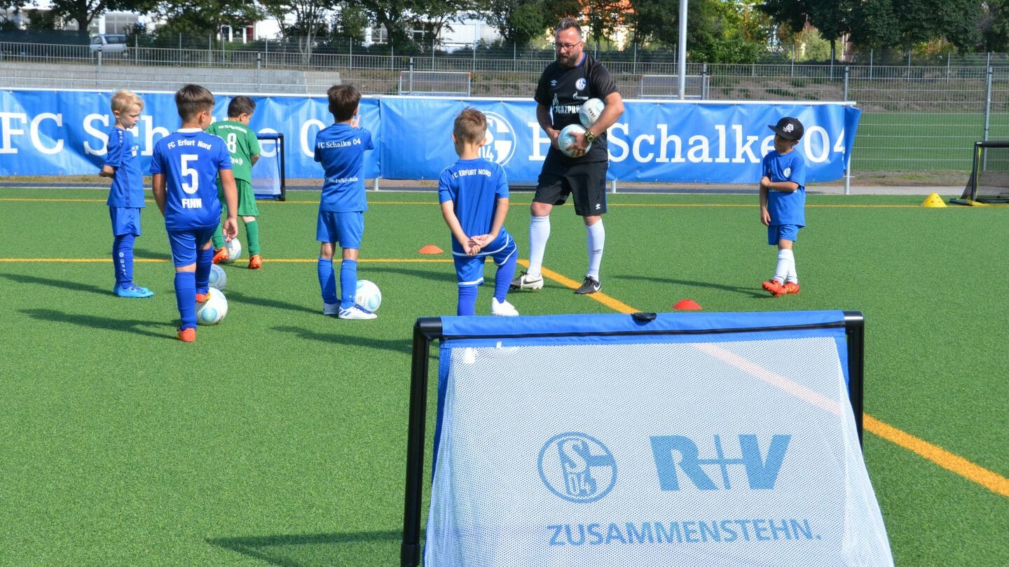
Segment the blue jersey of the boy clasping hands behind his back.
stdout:
<path fill-rule="evenodd" d="M 497 200 L 508 197 L 504 169 L 482 157 L 459 159 L 442 169 L 438 180 L 438 202 L 452 201 L 455 216 L 467 236 L 490 232 Z M 465 253 L 455 238 L 452 238 L 452 250 Z"/>

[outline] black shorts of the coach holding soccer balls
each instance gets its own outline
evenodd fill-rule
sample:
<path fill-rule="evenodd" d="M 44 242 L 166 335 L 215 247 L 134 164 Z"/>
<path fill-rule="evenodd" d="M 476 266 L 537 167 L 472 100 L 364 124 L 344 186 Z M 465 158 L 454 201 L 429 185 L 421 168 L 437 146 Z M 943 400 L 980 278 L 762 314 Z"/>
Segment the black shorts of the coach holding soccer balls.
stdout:
<path fill-rule="evenodd" d="M 608 161 L 585 163 L 543 164 L 536 184 L 533 201 L 548 205 L 563 205 L 569 195 L 574 196 L 574 212 L 582 217 L 606 212 L 606 168 Z"/>

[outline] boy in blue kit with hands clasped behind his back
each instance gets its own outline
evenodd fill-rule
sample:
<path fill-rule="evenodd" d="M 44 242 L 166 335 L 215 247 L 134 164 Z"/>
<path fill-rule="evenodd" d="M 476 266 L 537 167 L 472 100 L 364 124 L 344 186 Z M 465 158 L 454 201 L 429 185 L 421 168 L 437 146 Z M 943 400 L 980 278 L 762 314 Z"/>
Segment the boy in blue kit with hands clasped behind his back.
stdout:
<path fill-rule="evenodd" d="M 452 259 L 459 280 L 456 315 L 476 315 L 476 292 L 483 285 L 483 262 L 490 256 L 497 264 L 490 314 L 514 317 L 519 312 L 506 295 L 519 254 L 503 227 L 508 179 L 500 165 L 480 156 L 486 131 L 487 118 L 475 108 L 465 108 L 455 117 L 452 140 L 459 160 L 442 169 L 438 201 L 453 237 Z"/>

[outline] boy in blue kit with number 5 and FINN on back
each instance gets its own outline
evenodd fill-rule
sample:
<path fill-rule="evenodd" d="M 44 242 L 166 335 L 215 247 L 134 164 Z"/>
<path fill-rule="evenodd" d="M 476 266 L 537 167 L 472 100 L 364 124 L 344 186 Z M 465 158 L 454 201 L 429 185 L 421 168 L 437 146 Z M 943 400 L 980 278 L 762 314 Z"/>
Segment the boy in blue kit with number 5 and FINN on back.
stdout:
<path fill-rule="evenodd" d="M 228 206 L 222 227 L 228 240 L 238 232 L 238 193 L 224 140 L 204 131 L 213 119 L 214 95 L 199 85 L 186 85 L 176 93 L 176 107 L 182 127 L 157 141 L 150 174 L 176 266 L 176 304 L 182 321 L 179 339 L 193 342 L 196 304 L 207 301 L 209 291 L 214 259 L 211 237 L 221 220 L 218 176 Z"/>

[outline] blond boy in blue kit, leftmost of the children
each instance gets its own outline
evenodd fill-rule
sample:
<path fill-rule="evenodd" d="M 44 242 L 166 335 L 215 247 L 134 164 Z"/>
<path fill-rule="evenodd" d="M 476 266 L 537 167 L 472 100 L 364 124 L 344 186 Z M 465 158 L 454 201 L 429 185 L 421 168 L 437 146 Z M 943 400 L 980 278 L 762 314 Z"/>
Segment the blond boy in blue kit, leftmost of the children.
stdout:
<path fill-rule="evenodd" d="M 133 243 L 140 236 L 144 204 L 143 173 L 137 156 L 140 146 L 129 130 L 140 119 L 143 101 L 130 91 L 119 91 L 112 95 L 111 106 L 116 123 L 109 130 L 108 151 L 98 175 L 112 178 L 106 202 L 112 219 L 112 263 L 116 268 L 112 293 L 120 298 L 149 298 L 153 292 L 133 284 Z"/>

